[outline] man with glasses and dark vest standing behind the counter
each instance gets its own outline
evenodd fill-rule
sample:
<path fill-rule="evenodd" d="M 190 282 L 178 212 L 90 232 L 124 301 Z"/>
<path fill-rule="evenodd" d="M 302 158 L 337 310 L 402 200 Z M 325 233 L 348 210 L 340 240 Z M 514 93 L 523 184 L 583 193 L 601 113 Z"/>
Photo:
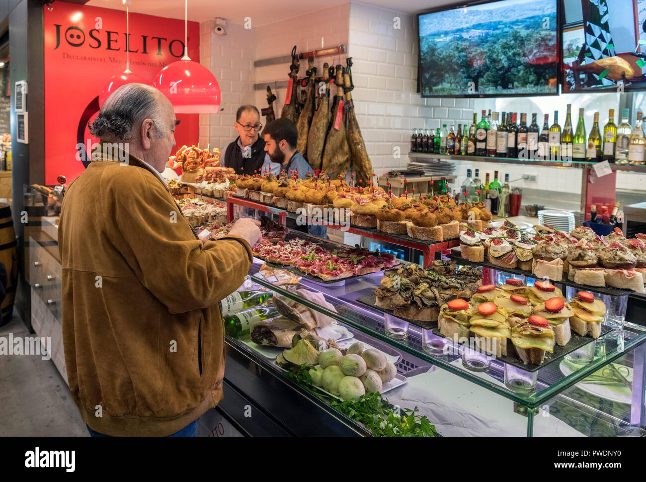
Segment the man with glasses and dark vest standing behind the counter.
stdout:
<path fill-rule="evenodd" d="M 233 168 L 236 174 L 253 175 L 254 171 L 270 170 L 280 173 L 280 164 L 271 162 L 265 152 L 265 141 L 260 137 L 262 124 L 260 112 L 255 105 L 240 105 L 234 123 L 238 138 L 231 142 L 224 153 L 223 164 Z"/>

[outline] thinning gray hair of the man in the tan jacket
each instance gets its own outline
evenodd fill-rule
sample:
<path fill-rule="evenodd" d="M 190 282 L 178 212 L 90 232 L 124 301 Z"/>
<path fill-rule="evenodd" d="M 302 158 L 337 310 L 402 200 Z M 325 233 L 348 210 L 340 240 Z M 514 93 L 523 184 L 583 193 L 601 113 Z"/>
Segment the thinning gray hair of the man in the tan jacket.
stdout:
<path fill-rule="evenodd" d="M 165 137 L 160 95 L 160 91 L 143 83 L 121 85 L 107 98 L 94 122 L 88 124 L 90 133 L 101 140 L 132 139 L 139 135 L 141 122 L 150 118 L 155 137 Z"/>

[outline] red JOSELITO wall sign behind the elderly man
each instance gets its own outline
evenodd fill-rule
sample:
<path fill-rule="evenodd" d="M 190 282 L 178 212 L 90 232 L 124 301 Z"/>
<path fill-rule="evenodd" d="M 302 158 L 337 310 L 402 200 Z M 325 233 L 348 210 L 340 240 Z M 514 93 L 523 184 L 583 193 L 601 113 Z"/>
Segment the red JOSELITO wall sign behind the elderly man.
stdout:
<path fill-rule="evenodd" d="M 88 164 L 87 146 L 98 142 L 87 123 L 99 111 L 98 97 L 107 80 L 126 67 L 152 84 L 166 65 L 184 54 L 184 21 L 56 2 L 43 9 L 45 22 L 45 184 L 59 175 L 76 179 Z M 199 61 L 200 26 L 188 23 L 189 56 Z M 199 116 L 178 114 L 178 146 L 196 144 Z M 79 148 L 79 146 L 85 146 Z M 81 159 L 81 160 L 78 160 Z"/>

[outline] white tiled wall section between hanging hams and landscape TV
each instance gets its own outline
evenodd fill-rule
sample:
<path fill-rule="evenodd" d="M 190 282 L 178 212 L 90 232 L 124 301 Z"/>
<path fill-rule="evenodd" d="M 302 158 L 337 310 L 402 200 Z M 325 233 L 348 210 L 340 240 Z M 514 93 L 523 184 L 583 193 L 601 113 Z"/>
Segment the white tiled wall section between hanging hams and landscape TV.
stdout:
<path fill-rule="evenodd" d="M 457 129 L 473 118 L 473 99 L 424 99 L 416 92 L 415 16 L 351 3 L 348 49 L 357 120 L 377 174 L 406 167 L 413 129 Z"/>

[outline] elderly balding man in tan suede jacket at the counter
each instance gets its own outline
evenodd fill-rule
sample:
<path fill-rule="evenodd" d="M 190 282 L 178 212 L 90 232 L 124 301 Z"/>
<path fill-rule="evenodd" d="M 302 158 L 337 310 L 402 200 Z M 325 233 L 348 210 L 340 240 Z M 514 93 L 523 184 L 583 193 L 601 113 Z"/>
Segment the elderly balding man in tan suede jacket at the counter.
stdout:
<path fill-rule="evenodd" d="M 217 241 L 196 236 L 160 177 L 176 124 L 156 89 L 120 87 L 63 199 L 65 364 L 93 436 L 196 436 L 223 397 L 218 303 L 244 281 L 261 235 L 241 219 Z"/>

